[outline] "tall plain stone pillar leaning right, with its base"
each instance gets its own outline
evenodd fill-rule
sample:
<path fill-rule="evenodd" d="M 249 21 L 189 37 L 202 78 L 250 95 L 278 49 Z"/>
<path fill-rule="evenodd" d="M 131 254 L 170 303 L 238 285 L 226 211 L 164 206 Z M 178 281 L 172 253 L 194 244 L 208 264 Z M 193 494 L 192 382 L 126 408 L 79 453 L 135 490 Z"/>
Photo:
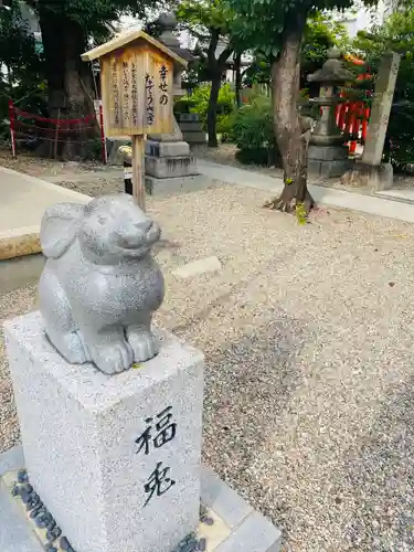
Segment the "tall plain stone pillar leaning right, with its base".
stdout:
<path fill-rule="evenodd" d="M 401 55 L 395 52 L 388 52 L 382 59 L 375 81 L 374 100 L 371 107 L 362 159 L 357 162 L 352 171 L 343 176 L 343 183 L 368 187 L 378 191 L 392 188 L 392 164 L 383 163 L 382 155 L 400 60 Z"/>

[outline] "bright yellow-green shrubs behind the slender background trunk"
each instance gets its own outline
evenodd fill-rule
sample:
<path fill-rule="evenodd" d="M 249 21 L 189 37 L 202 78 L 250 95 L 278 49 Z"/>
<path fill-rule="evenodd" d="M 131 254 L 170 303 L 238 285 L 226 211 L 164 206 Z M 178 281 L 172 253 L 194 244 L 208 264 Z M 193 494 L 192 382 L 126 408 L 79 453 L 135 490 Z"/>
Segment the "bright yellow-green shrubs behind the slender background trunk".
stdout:
<path fill-rule="evenodd" d="M 191 96 L 182 97 L 176 102 L 176 113 L 197 113 L 200 116 L 203 128 L 206 125 L 206 116 L 209 110 L 211 85 L 204 84 L 194 89 Z M 222 120 L 222 128 L 225 128 L 223 117 L 229 116 L 234 109 L 235 94 L 230 84 L 224 84 L 219 92 L 217 99 L 217 124 Z M 217 132 L 221 130 L 217 127 Z"/>

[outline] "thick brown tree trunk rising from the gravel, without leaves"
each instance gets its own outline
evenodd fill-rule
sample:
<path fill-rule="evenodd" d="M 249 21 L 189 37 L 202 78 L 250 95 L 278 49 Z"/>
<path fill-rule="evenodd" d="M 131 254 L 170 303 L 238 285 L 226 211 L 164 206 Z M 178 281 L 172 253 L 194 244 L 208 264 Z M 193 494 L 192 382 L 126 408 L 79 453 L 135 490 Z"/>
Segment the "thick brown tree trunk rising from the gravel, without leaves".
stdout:
<path fill-rule="evenodd" d="M 297 109 L 300 76 L 300 44 L 307 13 L 286 14 L 288 21 L 277 62 L 272 66 L 275 136 L 282 155 L 285 188 L 266 206 L 290 212 L 304 204 L 306 213 L 314 205 L 307 189 L 308 131 L 302 131 Z"/>

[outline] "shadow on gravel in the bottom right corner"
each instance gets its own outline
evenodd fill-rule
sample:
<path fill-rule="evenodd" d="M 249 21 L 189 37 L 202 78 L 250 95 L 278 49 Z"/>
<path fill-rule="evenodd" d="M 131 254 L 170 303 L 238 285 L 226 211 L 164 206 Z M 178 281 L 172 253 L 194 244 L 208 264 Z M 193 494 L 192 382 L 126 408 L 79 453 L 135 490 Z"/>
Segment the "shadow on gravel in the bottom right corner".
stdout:
<path fill-rule="evenodd" d="M 414 550 L 414 379 L 390 393 L 346 477 L 354 517 L 344 528 L 351 550 Z"/>

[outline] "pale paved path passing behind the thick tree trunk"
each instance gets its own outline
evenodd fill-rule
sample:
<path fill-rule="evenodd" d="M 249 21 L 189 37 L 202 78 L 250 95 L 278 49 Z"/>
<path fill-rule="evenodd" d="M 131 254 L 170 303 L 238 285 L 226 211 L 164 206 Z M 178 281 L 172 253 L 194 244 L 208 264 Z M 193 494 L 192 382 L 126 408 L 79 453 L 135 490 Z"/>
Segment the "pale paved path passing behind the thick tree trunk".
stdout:
<path fill-rule="evenodd" d="M 198 159 L 197 163 L 203 174 L 212 179 L 222 180 L 229 184 L 257 188 L 274 194 L 280 193 L 283 190 L 283 180 L 280 178 L 267 177 L 259 172 L 212 163 L 204 159 Z M 309 184 L 308 188 L 317 203 L 351 209 L 399 221 L 414 222 L 414 204 L 399 201 L 401 198 L 396 194 L 393 198 L 389 194 L 388 198 L 390 199 L 385 199 L 384 197 L 364 195 L 321 185 Z"/>

